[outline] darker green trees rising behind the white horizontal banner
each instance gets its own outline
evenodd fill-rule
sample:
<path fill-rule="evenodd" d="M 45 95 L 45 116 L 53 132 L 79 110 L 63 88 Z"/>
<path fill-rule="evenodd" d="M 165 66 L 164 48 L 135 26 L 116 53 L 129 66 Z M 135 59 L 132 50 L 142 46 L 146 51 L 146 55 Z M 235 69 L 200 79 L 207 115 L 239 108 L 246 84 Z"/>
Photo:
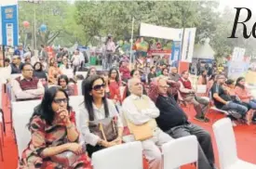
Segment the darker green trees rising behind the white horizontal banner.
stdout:
<path fill-rule="evenodd" d="M 206 7 L 202 8 L 202 4 Z M 212 13 L 214 2 L 76 2 L 76 20 L 83 25 L 88 40 L 111 32 L 118 38 L 130 37 L 131 20 L 135 19 L 134 34 L 139 34 L 141 22 L 172 28 L 198 27 L 197 41 L 215 30 Z M 211 6 L 211 7 L 209 7 Z M 87 9 L 87 10 L 85 10 Z M 204 15 L 204 17 L 201 16 Z M 209 20 L 210 19 L 210 20 Z M 212 24 L 211 24 L 212 21 Z M 206 26 L 203 24 L 207 23 Z M 205 27 L 208 27 L 205 31 Z M 201 35 L 203 33 L 204 35 Z"/>

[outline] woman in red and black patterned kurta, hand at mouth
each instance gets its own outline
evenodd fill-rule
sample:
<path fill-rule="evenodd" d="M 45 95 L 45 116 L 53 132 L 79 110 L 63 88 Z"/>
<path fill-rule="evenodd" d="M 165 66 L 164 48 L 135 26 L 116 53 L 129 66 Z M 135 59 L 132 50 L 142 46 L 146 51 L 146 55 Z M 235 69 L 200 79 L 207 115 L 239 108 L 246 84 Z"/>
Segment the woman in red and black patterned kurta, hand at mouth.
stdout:
<path fill-rule="evenodd" d="M 88 156 L 79 145 L 74 112 L 68 96 L 60 87 L 47 89 L 42 103 L 34 109 L 29 123 L 32 133 L 28 148 L 23 151 L 20 169 L 90 169 Z M 79 154 L 72 166 L 66 167 L 50 157 L 71 150 Z"/>

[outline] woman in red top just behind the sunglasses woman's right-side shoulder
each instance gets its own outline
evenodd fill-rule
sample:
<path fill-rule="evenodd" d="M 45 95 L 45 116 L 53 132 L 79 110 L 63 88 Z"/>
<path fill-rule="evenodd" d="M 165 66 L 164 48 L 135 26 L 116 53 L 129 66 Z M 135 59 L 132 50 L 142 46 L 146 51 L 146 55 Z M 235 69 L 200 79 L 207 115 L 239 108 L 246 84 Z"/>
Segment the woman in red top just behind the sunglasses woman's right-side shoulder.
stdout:
<path fill-rule="evenodd" d="M 109 92 L 110 92 L 110 99 L 113 99 L 115 103 L 122 102 L 122 98 L 120 95 L 120 86 L 121 86 L 121 80 L 119 76 L 119 72 L 112 68 L 109 71 Z"/>

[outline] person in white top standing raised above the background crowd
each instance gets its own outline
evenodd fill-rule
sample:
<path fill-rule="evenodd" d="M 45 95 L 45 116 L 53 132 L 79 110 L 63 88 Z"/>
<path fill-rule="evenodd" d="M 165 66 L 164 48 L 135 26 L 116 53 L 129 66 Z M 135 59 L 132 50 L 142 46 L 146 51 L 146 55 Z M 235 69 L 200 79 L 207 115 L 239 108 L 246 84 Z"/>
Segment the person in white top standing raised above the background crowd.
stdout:
<path fill-rule="evenodd" d="M 106 47 L 106 63 L 107 70 L 112 67 L 113 62 L 113 54 L 115 53 L 115 43 L 113 41 L 113 36 L 111 34 L 108 35 L 107 41 L 105 43 Z"/>

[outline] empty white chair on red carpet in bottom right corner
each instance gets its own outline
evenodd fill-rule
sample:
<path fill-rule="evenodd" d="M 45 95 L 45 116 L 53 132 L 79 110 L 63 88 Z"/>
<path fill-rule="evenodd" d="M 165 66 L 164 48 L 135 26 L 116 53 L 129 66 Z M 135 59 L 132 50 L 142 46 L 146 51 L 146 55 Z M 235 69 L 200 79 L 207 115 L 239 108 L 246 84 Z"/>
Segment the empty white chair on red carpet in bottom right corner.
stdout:
<path fill-rule="evenodd" d="M 224 118 L 212 125 L 219 151 L 221 169 L 256 169 L 256 165 L 238 159 L 231 120 Z"/>

